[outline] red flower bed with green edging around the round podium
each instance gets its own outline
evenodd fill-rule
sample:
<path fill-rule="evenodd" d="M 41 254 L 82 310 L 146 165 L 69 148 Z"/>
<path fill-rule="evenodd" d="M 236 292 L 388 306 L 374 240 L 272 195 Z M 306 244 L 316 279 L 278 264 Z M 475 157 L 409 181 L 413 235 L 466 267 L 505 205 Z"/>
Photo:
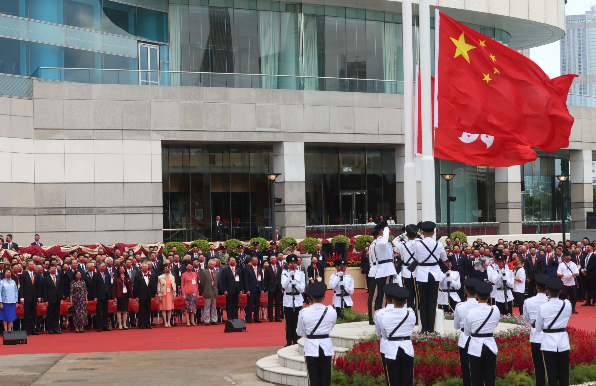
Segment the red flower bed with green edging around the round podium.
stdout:
<path fill-rule="evenodd" d="M 570 367 L 573 369 L 579 365 L 596 365 L 594 332 L 573 327 L 567 327 L 567 332 L 571 346 Z M 498 385 L 533 384 L 529 335 L 528 325 L 520 325 L 495 335 L 496 345 L 499 347 L 496 365 Z M 414 384 L 460 384 L 458 336 L 458 333 L 440 335 L 414 332 Z M 358 386 L 360 379 L 367 379 L 366 384 L 370 386 L 386 384 L 378 337 L 355 344 L 345 356 L 334 359 L 333 368 L 335 385 L 347 384 L 347 381 L 352 386 Z"/>

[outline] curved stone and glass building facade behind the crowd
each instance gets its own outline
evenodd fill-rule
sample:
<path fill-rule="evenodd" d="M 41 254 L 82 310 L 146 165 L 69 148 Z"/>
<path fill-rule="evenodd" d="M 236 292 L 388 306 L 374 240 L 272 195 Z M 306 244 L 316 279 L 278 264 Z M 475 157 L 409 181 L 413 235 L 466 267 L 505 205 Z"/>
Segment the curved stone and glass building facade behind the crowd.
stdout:
<path fill-rule="evenodd" d="M 565 33 L 564 0 L 459 3 L 433 5 L 514 49 Z M 219 215 L 226 237 L 246 240 L 271 226 L 268 172 L 281 173 L 283 236 L 381 215 L 402 222 L 404 26 L 400 2 L 373 0 L 1 2 L 0 233 L 194 240 L 211 238 Z M 408 27 L 416 53 L 418 18 Z M 504 234 L 560 220 L 554 176 L 569 173 L 566 214 L 584 227 L 594 109 L 569 109 L 570 147 L 535 162 L 436 159 L 437 222 L 439 173 L 457 173 L 452 221 L 498 221 Z"/>

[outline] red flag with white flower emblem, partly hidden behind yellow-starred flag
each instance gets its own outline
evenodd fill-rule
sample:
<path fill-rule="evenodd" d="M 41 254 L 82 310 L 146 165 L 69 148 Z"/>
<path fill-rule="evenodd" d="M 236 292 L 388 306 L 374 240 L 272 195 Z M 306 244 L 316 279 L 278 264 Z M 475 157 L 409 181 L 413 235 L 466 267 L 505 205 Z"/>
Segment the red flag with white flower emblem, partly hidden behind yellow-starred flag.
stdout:
<path fill-rule="evenodd" d="M 422 153 L 422 124 L 420 109 L 420 71 L 417 72 L 417 90 L 414 124 L 417 125 L 415 140 L 417 152 Z M 434 92 L 434 78 L 431 77 Z M 433 155 L 448 161 L 463 162 L 469 165 L 507 167 L 523 165 L 536 159 L 536 152 L 529 146 L 519 145 L 488 134 L 465 133 L 451 128 L 433 130 Z"/>

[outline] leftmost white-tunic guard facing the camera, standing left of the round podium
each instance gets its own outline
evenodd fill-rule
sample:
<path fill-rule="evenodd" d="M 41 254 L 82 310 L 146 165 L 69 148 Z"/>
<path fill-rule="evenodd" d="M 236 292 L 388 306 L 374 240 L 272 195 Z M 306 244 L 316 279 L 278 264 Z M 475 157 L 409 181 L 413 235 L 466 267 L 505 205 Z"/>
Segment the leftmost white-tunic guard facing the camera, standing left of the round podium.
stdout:
<path fill-rule="evenodd" d="M 284 321 L 286 346 L 298 344 L 299 335 L 296 334 L 298 316 L 302 309 L 302 293 L 306 288 L 306 275 L 297 270 L 298 258 L 290 255 L 286 259 L 288 269 L 281 272 L 281 286 L 284 287 Z"/>

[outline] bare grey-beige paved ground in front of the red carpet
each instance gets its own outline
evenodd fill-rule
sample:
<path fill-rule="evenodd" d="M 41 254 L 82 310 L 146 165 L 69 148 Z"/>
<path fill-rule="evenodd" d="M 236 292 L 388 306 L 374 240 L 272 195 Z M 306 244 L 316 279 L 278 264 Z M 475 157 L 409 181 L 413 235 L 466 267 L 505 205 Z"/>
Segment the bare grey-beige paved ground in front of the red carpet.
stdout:
<path fill-rule="evenodd" d="M 255 362 L 279 349 L 6 355 L 1 357 L 0 384 L 271 386 L 257 378 Z"/>

